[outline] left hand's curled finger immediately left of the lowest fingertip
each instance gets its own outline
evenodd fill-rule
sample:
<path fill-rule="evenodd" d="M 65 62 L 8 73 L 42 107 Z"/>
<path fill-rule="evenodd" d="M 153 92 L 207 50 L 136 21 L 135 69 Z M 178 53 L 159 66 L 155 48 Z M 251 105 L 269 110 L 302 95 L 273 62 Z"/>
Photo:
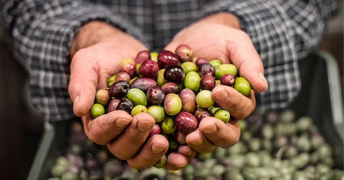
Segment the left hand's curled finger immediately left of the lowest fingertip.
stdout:
<path fill-rule="evenodd" d="M 169 142 L 162 135 L 152 136 L 133 158 L 128 159 L 130 167 L 143 169 L 153 166 L 166 153 Z"/>

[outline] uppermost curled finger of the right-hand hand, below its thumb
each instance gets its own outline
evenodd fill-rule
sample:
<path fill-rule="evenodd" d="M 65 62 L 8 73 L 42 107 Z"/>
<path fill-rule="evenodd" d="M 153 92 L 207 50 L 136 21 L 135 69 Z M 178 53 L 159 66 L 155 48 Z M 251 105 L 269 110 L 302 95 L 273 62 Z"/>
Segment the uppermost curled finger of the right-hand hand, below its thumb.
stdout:
<path fill-rule="evenodd" d="M 219 107 L 228 110 L 235 119 L 244 119 L 256 107 L 254 91 L 246 97 L 232 87 L 219 85 L 213 89 L 212 97 Z"/>

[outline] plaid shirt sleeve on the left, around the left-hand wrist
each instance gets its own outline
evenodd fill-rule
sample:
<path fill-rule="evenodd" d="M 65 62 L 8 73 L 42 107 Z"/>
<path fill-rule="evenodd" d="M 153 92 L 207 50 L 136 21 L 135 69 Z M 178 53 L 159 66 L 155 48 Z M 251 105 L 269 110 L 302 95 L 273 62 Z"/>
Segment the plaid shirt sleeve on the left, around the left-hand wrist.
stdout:
<path fill-rule="evenodd" d="M 69 49 L 80 27 L 91 20 L 108 22 L 145 43 L 137 27 L 104 6 L 82 0 L 0 2 L 0 23 L 14 56 L 29 72 L 33 105 L 46 120 L 75 116 L 68 94 Z"/>

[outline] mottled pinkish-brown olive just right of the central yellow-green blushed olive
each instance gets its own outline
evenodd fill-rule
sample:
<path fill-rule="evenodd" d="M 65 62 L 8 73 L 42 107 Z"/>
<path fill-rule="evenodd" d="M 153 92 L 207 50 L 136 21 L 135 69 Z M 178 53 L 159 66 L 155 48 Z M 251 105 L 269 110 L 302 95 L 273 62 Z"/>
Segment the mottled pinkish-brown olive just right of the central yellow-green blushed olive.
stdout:
<path fill-rule="evenodd" d="M 188 112 L 190 114 L 194 114 L 197 103 L 196 103 L 196 95 L 191 89 L 183 89 L 179 93 L 179 97 L 182 100 L 182 110 Z"/>

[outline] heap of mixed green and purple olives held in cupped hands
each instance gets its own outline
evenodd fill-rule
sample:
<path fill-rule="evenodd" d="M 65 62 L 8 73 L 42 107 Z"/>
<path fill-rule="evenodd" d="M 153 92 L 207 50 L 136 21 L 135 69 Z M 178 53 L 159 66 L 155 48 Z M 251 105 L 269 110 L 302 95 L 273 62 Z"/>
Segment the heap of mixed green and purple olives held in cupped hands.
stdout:
<path fill-rule="evenodd" d="M 121 61 L 120 72 L 109 78 L 108 88 L 97 91 L 90 111 L 94 118 L 114 110 L 131 116 L 149 113 L 156 123 L 149 137 L 164 135 L 171 152 L 186 143 L 186 135 L 203 118 L 229 121 L 229 112 L 217 107 L 212 98 L 211 91 L 218 85 L 231 86 L 244 96 L 251 92 L 250 83 L 238 76 L 235 65 L 195 58 L 187 45 L 178 46 L 175 53 L 141 51 L 135 60 Z M 165 164 L 159 161 L 154 166 Z"/>

